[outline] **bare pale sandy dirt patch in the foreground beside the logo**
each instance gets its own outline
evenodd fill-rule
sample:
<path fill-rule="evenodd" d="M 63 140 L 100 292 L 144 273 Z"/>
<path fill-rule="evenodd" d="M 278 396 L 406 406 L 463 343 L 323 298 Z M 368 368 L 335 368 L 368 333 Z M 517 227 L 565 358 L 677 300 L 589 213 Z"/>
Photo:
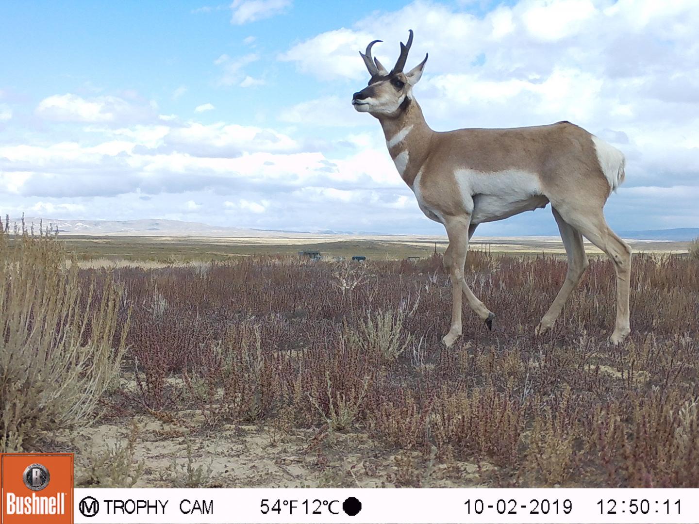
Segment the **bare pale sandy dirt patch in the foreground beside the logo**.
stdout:
<path fill-rule="evenodd" d="M 178 418 L 193 421 L 191 412 Z M 143 465 L 135 488 L 173 487 L 173 472 L 186 477 L 188 463 L 203 472 L 200 487 L 220 488 L 474 487 L 484 486 L 484 474 L 496 469 L 485 462 L 442 461 L 417 451 L 387 449 L 361 432 L 292 430 L 280 435 L 273 428 L 230 424 L 207 432 L 139 415 L 57 437 L 57 444 L 75 451 L 76 486 L 94 485 L 94 460 L 127 442 L 134 423 L 138 439 L 132 467 Z"/>

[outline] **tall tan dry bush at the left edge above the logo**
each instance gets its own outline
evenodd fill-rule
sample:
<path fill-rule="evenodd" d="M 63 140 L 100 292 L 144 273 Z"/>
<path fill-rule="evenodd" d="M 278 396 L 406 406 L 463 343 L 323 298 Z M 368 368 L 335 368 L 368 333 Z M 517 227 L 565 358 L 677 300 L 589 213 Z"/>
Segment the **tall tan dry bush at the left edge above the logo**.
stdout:
<path fill-rule="evenodd" d="M 0 451 L 94 421 L 118 379 L 121 286 L 107 272 L 81 279 L 65 261 L 52 236 L 0 233 Z"/>

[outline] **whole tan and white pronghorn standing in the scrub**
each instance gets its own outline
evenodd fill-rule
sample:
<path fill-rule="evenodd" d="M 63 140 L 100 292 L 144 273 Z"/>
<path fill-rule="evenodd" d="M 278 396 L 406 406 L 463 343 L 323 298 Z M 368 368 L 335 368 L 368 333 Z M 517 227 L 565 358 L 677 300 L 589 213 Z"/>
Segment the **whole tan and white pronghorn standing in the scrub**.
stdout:
<path fill-rule="evenodd" d="M 568 255 L 568 273 L 535 333 L 551 328 L 563 303 L 588 265 L 582 236 L 603 250 L 617 272 L 617 322 L 610 340 L 619 344 L 630 331 L 628 293 L 631 249 L 607 226 L 603 207 L 624 181 L 624 154 L 575 124 L 511 129 L 430 129 L 412 94 L 427 61 L 403 73 L 412 44 L 387 71 L 361 55 L 371 78 L 354 93 L 352 105 L 376 117 L 398 173 L 415 193 L 419 208 L 447 230 L 444 266 L 452 280 L 452 324 L 442 338 L 447 347 L 461 335 L 461 295 L 492 329 L 495 318 L 464 279 L 468 240 L 482 222 L 512 217 L 551 203 Z"/>

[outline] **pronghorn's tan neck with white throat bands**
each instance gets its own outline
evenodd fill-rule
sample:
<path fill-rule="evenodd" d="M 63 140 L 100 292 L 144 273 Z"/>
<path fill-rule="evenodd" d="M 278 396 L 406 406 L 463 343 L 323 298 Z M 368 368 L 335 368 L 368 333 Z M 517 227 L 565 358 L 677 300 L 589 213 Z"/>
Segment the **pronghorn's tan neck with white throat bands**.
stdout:
<path fill-rule="evenodd" d="M 398 173 L 412 187 L 420 166 L 427 158 L 434 131 L 425 122 L 415 99 L 406 98 L 397 115 L 380 117 L 379 122 Z"/>

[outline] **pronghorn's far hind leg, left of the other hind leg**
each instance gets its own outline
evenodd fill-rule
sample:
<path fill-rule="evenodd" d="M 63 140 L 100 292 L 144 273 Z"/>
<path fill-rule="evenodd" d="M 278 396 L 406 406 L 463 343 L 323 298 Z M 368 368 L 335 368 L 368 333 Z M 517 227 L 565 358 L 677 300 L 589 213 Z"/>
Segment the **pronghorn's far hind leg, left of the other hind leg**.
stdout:
<path fill-rule="evenodd" d="M 559 225 L 561 240 L 563 240 L 563 246 L 565 247 L 565 254 L 568 256 L 568 272 L 565 274 L 565 281 L 559 293 L 556 295 L 556 298 L 554 298 L 554 302 L 542 317 L 539 325 L 536 326 L 535 333 L 537 335 L 543 335 L 554 325 L 559 314 L 561 314 L 565 300 L 568 300 L 570 293 L 572 293 L 572 290 L 575 289 L 575 286 L 580 282 L 589 264 L 587 256 L 585 255 L 585 247 L 582 243 L 582 235 L 580 232 L 563 220 L 563 217 L 561 217 L 561 214 L 559 214 L 555 208 L 552 208 L 552 211 L 554 212 L 556 224 Z"/>

